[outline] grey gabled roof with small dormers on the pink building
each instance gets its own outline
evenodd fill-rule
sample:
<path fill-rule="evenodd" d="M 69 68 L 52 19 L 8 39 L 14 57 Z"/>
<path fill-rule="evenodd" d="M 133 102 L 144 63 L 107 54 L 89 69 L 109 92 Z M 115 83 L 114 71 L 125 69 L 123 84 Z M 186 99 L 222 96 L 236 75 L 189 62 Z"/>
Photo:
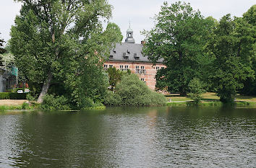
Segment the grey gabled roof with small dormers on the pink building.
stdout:
<path fill-rule="evenodd" d="M 148 56 L 142 56 L 142 44 L 135 43 L 117 43 L 116 48 L 111 50 L 109 61 L 135 61 L 135 62 L 151 62 Z M 163 59 L 158 63 L 163 63 Z"/>

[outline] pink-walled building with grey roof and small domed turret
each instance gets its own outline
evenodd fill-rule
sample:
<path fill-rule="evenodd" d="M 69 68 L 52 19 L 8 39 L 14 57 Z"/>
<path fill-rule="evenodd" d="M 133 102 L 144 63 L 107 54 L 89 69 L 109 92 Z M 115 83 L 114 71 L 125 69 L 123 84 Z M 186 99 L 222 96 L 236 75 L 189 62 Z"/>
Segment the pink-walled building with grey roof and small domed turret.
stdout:
<path fill-rule="evenodd" d="M 148 60 L 148 56 L 142 56 L 143 44 L 143 41 L 140 44 L 135 43 L 133 31 L 129 27 L 125 43 L 116 44 L 116 48 L 111 50 L 108 61 L 104 63 L 104 69 L 113 66 L 121 71 L 129 69 L 132 73 L 137 74 L 140 80 L 145 81 L 150 89 L 155 89 L 156 71 L 165 66 L 163 60 L 153 66 L 153 63 Z"/>

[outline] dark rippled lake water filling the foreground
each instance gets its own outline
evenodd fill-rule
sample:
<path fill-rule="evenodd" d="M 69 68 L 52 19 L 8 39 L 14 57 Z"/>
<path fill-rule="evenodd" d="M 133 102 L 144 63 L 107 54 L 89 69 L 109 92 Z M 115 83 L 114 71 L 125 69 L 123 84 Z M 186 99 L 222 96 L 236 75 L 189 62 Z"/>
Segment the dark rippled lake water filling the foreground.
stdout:
<path fill-rule="evenodd" d="M 256 167 L 256 108 L 0 112 L 0 167 Z"/>

